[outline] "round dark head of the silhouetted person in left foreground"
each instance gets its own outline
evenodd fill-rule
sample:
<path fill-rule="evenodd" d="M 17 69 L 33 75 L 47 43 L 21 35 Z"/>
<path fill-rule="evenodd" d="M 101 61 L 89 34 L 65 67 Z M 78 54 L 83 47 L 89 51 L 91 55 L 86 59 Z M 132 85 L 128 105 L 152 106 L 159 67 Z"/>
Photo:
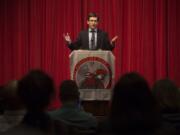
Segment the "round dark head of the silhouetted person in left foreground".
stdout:
<path fill-rule="evenodd" d="M 18 94 L 29 110 L 44 110 L 54 94 L 53 80 L 41 70 L 32 70 L 18 83 Z"/>

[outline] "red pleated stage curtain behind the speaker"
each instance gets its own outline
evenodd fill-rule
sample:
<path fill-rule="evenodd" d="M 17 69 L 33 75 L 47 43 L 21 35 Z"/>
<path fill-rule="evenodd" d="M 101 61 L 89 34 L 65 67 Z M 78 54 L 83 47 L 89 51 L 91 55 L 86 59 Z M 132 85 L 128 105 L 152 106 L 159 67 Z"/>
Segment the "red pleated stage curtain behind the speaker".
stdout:
<path fill-rule="evenodd" d="M 180 86 L 179 0 L 0 0 L 0 84 L 33 68 L 48 72 L 56 86 L 70 78 L 62 35 L 75 39 L 90 11 L 110 38 L 119 36 L 116 79 L 137 71 L 150 84 L 169 77 Z"/>

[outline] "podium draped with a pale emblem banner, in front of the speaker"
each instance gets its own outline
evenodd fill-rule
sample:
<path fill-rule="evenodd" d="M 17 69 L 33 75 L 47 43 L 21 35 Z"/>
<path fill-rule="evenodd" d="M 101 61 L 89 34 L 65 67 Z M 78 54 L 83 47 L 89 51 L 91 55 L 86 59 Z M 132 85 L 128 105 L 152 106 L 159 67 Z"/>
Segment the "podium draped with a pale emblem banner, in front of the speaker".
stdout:
<path fill-rule="evenodd" d="M 77 50 L 69 58 L 71 79 L 79 87 L 84 109 L 96 116 L 107 115 L 114 84 L 114 55 L 111 51 Z"/>

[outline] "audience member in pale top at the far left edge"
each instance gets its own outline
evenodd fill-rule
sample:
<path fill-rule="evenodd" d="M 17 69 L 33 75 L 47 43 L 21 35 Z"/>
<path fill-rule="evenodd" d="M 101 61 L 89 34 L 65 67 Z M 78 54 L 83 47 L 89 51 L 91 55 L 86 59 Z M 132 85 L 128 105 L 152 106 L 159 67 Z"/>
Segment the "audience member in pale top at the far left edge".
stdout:
<path fill-rule="evenodd" d="M 17 94 L 18 81 L 8 82 L 1 91 L 3 115 L 1 115 L 0 131 L 4 132 L 18 125 L 24 118 L 25 109 Z"/>

